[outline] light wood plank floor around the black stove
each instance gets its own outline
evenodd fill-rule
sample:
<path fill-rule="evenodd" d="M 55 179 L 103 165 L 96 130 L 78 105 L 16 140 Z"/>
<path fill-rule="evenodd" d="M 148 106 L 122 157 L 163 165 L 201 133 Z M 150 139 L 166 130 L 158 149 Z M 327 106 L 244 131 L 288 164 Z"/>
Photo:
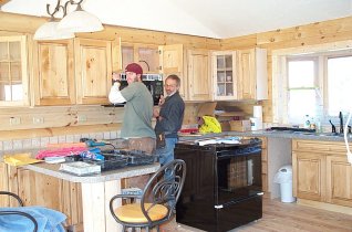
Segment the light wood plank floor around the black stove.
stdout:
<path fill-rule="evenodd" d="M 351 209 L 352 210 L 352 209 Z M 200 232 L 201 230 L 169 222 L 164 232 Z M 352 215 L 319 210 L 279 200 L 263 199 L 263 217 L 231 232 L 352 232 Z"/>

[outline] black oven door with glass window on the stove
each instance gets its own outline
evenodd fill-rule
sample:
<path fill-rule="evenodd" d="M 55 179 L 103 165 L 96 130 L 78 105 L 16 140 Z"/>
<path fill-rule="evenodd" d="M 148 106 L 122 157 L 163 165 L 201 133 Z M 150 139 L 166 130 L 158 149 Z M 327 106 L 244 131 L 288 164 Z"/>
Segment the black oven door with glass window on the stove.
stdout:
<path fill-rule="evenodd" d="M 262 194 L 261 148 L 248 147 L 239 150 L 228 150 L 217 155 L 216 201 L 218 204 Z"/>

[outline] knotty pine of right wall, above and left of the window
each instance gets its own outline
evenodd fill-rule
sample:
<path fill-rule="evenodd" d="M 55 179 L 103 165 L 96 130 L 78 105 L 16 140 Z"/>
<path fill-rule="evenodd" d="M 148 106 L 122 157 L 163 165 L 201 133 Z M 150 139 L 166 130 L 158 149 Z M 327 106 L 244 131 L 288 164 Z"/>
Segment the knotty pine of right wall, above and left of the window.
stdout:
<path fill-rule="evenodd" d="M 272 65 L 271 53 L 279 49 L 303 48 L 309 45 L 346 41 L 352 39 L 352 17 L 278 29 L 265 33 L 220 40 L 221 50 L 240 50 L 259 46 L 268 51 L 268 91 L 269 99 L 259 102 L 263 106 L 263 122 L 272 122 Z M 247 115 L 252 114 L 252 106 L 258 103 L 230 103 L 238 105 Z"/>

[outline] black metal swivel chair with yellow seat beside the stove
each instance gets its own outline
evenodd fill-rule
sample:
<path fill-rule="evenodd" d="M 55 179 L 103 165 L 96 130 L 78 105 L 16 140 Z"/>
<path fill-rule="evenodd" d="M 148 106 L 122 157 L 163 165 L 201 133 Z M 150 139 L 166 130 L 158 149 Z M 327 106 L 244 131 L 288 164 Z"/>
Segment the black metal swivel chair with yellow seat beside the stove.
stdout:
<path fill-rule="evenodd" d="M 176 213 L 176 202 L 180 196 L 186 178 L 186 164 L 175 159 L 155 172 L 146 183 L 143 194 L 116 194 L 110 200 L 110 211 L 116 222 L 127 228 L 156 228 Z M 141 199 L 139 202 L 114 209 L 116 199 Z"/>

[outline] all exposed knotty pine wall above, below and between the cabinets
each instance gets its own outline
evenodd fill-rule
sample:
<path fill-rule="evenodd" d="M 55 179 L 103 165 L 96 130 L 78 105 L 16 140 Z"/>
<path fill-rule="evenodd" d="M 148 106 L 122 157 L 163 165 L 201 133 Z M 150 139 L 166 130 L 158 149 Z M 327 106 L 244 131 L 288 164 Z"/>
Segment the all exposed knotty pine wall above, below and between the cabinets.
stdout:
<path fill-rule="evenodd" d="M 33 34 L 37 28 L 44 23 L 46 18 L 27 17 L 0 12 L 0 35 Z M 131 29 L 105 25 L 105 30 L 95 33 L 82 33 L 80 36 L 114 40 L 121 38 L 122 42 L 144 44 L 179 44 L 186 49 L 206 50 L 239 50 L 255 46 L 268 50 L 269 99 L 261 102 L 228 103 L 236 105 L 251 115 L 252 105 L 263 105 L 263 120 L 272 122 L 271 114 L 271 52 L 277 49 L 306 46 L 352 39 L 352 17 L 281 29 L 265 33 L 250 34 L 240 38 L 217 40 L 211 38 L 183 35 L 149 30 Z M 197 103 L 186 104 L 184 124 L 196 123 Z M 0 141 L 7 139 L 50 137 L 91 131 L 118 130 L 122 123 L 122 108 L 104 108 L 101 106 L 58 106 L 31 108 L 1 108 L 0 109 Z M 32 118 L 41 115 L 43 124 L 33 124 Z M 79 115 L 86 117 L 79 122 Z M 10 126 L 10 117 L 21 117 L 21 124 Z"/>

